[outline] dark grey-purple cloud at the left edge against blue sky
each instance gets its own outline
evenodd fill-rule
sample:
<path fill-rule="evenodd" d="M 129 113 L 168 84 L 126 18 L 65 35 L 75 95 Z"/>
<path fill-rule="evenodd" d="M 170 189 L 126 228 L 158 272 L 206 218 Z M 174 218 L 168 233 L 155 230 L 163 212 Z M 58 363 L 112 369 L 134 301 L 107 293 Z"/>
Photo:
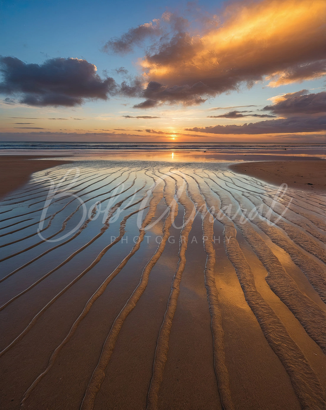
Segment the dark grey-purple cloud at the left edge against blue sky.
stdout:
<path fill-rule="evenodd" d="M 94 64 L 77 58 L 53 58 L 26 64 L 15 57 L 0 57 L 3 81 L 0 92 L 22 95 L 20 103 L 73 107 L 84 99 L 107 100 L 116 92 L 111 77 L 102 79 Z"/>

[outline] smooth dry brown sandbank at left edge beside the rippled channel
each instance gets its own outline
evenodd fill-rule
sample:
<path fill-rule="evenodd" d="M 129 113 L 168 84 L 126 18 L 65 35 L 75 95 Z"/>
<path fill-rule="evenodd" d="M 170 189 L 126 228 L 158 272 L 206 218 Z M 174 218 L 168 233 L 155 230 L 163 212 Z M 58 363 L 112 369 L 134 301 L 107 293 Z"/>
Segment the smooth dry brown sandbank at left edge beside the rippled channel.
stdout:
<path fill-rule="evenodd" d="M 51 159 L 49 155 L 1 155 L 0 173 L 5 178 L 0 184 L 0 198 L 28 182 L 32 173 L 71 162 L 55 158 Z"/>

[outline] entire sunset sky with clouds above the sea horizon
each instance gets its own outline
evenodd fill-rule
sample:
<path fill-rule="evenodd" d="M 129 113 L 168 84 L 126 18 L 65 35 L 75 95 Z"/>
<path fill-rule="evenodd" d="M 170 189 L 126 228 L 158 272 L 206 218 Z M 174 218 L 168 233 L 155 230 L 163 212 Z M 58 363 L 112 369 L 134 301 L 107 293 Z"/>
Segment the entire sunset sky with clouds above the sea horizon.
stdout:
<path fill-rule="evenodd" d="M 326 142 L 326 1 L 0 1 L 0 140 Z"/>

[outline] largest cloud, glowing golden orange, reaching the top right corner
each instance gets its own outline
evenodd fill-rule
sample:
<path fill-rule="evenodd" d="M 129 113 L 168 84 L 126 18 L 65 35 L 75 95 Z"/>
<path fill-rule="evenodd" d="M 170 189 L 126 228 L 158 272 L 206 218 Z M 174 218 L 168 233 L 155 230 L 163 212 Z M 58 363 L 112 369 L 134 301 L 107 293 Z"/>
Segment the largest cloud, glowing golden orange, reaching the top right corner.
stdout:
<path fill-rule="evenodd" d="M 171 29 L 140 62 L 147 86 L 145 101 L 134 107 L 200 104 L 266 76 L 272 87 L 320 77 L 326 62 L 325 12 L 324 0 L 238 2 L 209 30 L 203 26 L 195 32 L 189 22 L 182 30 Z M 122 51 L 146 37 L 132 30 Z"/>

